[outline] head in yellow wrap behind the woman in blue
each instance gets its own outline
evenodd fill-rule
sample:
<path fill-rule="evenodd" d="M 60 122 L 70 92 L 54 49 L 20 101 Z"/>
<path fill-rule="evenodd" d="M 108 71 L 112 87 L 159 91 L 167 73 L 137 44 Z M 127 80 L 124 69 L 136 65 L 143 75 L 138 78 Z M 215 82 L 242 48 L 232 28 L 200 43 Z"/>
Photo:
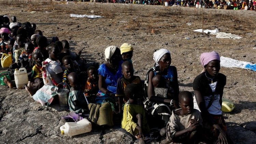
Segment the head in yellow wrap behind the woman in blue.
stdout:
<path fill-rule="evenodd" d="M 133 47 L 128 43 L 124 43 L 120 46 L 120 51 L 121 51 L 123 61 L 128 60 L 132 63 L 131 58 L 133 55 Z"/>

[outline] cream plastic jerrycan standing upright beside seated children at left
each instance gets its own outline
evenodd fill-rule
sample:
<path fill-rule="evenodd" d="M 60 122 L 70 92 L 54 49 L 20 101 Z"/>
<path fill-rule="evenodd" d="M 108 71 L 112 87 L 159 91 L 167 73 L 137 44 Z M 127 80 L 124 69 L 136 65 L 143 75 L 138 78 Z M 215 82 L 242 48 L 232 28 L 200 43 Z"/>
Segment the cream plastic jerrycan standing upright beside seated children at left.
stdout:
<path fill-rule="evenodd" d="M 15 69 L 14 80 L 17 89 L 21 89 L 24 85 L 28 84 L 28 74 L 26 68 Z"/>

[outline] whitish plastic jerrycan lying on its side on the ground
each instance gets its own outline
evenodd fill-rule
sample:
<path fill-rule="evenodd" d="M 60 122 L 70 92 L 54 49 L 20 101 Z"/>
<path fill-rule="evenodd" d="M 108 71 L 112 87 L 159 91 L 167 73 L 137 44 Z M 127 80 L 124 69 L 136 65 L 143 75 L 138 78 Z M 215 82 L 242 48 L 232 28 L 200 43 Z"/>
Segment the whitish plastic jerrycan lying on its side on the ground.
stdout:
<path fill-rule="evenodd" d="M 67 136 L 78 135 L 91 131 L 91 123 L 86 118 L 77 122 L 67 122 L 60 128 L 61 134 Z"/>

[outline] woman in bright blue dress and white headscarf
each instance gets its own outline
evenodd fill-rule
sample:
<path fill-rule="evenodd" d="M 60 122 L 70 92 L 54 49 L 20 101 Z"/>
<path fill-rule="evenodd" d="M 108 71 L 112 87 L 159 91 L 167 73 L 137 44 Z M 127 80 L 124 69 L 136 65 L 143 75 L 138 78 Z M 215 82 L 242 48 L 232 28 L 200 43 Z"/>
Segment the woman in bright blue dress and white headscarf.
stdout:
<path fill-rule="evenodd" d="M 110 102 L 115 99 L 116 85 L 119 77 L 122 76 L 120 49 L 116 46 L 109 46 L 105 49 L 105 63 L 101 64 L 99 73 L 99 92 L 96 103 Z M 112 105 L 113 107 L 113 105 Z"/>

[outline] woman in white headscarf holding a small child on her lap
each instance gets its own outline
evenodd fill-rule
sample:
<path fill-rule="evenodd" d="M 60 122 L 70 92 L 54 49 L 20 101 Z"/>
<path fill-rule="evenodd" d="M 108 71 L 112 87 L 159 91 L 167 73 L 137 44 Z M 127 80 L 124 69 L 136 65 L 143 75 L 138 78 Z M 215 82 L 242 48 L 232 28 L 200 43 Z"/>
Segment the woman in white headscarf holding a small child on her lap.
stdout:
<path fill-rule="evenodd" d="M 153 59 L 156 63 L 155 66 L 147 72 L 145 81 L 145 96 L 147 98 L 144 104 L 147 113 L 160 118 L 163 122 L 160 126 L 164 127 L 172 114 L 171 110 L 174 109 L 172 105 L 176 106 L 176 101 L 178 101 L 179 84 L 177 80 L 177 70 L 176 67 L 171 66 L 171 54 L 167 49 L 159 49 L 156 51 Z M 163 85 L 166 87 L 163 88 L 168 89 L 168 94 L 166 93 L 163 97 L 156 95 L 156 88 L 152 82 L 155 75 L 158 77 L 160 75 L 162 80 L 160 83 L 164 83 Z"/>

